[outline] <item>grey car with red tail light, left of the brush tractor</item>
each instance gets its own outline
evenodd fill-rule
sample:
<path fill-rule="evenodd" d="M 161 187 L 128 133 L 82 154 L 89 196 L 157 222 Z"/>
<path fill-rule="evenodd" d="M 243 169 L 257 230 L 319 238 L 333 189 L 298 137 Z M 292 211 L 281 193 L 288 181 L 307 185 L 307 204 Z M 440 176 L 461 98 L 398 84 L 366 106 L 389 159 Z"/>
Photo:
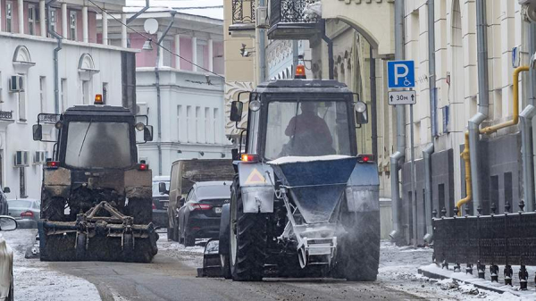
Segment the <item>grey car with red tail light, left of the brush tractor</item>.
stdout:
<path fill-rule="evenodd" d="M 34 198 L 18 198 L 7 201 L 9 215 L 19 223 L 20 228 L 38 228 L 41 218 L 41 200 Z"/>

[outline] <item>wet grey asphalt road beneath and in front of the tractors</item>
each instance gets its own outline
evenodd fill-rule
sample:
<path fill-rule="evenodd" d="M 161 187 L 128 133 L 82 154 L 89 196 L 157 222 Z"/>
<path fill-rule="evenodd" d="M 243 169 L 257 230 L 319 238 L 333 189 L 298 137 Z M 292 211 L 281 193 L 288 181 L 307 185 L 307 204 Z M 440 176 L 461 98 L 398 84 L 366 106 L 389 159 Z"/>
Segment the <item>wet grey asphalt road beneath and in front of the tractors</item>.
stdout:
<path fill-rule="evenodd" d="M 165 235 L 165 234 L 164 234 Z M 163 243 L 163 239 L 159 241 Z M 182 254 L 181 254 L 182 253 Z M 185 261 L 186 258 L 190 258 Z M 195 257 L 198 257 L 197 260 Z M 193 261 L 192 261 L 193 258 Z M 264 280 L 233 282 L 197 278 L 193 262 L 201 254 L 163 249 L 153 263 L 51 263 L 59 272 L 96 285 L 103 300 L 410 300 L 421 299 L 381 282 L 344 280 Z"/>

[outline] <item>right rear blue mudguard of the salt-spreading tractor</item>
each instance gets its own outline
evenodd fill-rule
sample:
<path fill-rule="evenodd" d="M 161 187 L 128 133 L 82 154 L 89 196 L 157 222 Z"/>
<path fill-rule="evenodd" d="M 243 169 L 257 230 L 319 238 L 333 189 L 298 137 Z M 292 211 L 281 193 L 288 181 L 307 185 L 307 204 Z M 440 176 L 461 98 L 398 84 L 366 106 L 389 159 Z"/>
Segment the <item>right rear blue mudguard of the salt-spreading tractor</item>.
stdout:
<path fill-rule="evenodd" d="M 348 211 L 354 213 L 380 210 L 380 179 L 375 163 L 357 163 L 345 190 Z"/>

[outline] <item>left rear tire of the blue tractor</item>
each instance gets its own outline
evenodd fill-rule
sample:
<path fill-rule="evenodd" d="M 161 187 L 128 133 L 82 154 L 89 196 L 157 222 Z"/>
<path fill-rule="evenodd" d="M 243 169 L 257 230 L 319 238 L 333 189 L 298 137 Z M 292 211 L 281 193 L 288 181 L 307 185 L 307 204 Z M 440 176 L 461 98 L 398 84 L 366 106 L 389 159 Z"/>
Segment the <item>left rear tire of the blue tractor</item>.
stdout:
<path fill-rule="evenodd" d="M 232 280 L 263 280 L 266 242 L 266 216 L 261 213 L 243 213 L 241 190 L 238 179 L 235 179 L 230 199 L 229 245 Z"/>

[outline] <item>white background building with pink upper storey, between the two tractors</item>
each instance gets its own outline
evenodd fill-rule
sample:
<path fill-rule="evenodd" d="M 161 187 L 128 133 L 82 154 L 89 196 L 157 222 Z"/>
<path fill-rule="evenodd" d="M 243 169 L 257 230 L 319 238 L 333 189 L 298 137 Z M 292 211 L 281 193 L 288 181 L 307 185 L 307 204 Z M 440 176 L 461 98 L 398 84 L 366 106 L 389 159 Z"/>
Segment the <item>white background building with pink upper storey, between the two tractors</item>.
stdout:
<path fill-rule="evenodd" d="M 152 2 L 130 22 L 127 32 L 132 49 L 142 49 L 147 38 L 152 39 L 152 49 L 136 55 L 136 91 L 138 114 L 147 114 L 154 127 L 153 142 L 138 146 L 138 156 L 150 164 L 154 175 L 169 175 L 179 159 L 230 158 L 230 141 L 223 130 L 222 7 L 197 6 L 197 14 L 180 4 L 159 7 L 169 3 Z M 141 8 L 126 7 L 126 16 Z M 149 19 L 158 24 L 154 33 L 144 28 Z M 119 22 L 110 21 L 112 45 L 121 43 L 121 29 Z M 159 47 L 156 43 L 162 37 Z"/>

